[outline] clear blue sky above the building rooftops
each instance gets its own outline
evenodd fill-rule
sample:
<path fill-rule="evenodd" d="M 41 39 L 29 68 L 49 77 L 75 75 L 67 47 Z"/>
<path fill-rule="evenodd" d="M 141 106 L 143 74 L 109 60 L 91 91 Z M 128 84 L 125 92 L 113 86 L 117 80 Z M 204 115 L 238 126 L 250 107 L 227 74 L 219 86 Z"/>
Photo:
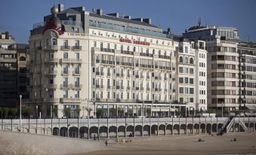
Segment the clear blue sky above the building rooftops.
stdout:
<path fill-rule="evenodd" d="M 17 43 L 28 43 L 29 30 L 43 21 L 53 5 L 84 6 L 85 11 L 103 9 L 103 14 L 151 18 L 153 25 L 175 35 L 197 25 L 230 26 L 239 30 L 242 41 L 256 42 L 255 0 L 0 0 L 0 32 L 8 31 Z"/>

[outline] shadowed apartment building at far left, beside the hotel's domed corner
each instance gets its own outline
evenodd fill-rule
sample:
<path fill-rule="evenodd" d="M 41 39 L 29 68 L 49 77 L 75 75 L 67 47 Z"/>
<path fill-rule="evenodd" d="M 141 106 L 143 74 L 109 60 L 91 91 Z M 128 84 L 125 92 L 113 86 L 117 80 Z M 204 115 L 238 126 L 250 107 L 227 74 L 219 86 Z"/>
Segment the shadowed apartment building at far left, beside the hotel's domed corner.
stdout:
<path fill-rule="evenodd" d="M 28 99 L 26 44 L 17 44 L 9 32 L 0 35 L 0 106 L 17 106 L 19 95 Z"/>

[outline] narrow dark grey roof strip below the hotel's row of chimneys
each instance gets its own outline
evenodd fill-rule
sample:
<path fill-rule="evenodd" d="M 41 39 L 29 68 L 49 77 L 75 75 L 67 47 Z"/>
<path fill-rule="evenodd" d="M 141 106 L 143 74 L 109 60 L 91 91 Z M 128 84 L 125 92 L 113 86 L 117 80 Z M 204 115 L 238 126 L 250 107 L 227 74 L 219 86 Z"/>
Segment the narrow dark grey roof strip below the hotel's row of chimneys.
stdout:
<path fill-rule="evenodd" d="M 154 27 L 154 28 L 159 28 L 157 26 L 153 26 L 152 24 L 148 24 L 148 23 L 144 23 L 144 22 L 140 22 L 137 20 L 129 20 L 129 19 L 125 19 L 125 18 L 120 18 L 120 17 L 112 17 L 112 16 L 108 16 L 108 15 L 99 15 L 96 13 L 90 13 L 91 17 L 97 17 L 97 18 L 103 18 L 106 20 L 116 20 L 119 22 L 124 22 L 124 23 L 133 23 L 133 24 L 137 24 L 137 25 L 141 25 L 141 26 L 150 26 L 150 27 Z"/>

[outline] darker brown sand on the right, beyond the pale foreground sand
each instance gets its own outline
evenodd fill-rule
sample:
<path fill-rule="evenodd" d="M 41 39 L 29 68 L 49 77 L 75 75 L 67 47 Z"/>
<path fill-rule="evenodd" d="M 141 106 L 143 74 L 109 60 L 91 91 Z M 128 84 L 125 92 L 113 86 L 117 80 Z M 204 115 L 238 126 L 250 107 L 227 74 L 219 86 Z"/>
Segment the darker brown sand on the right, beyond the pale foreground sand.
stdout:
<path fill-rule="evenodd" d="M 199 142 L 199 138 L 203 141 Z M 234 138 L 236 138 L 237 141 L 231 141 Z M 77 155 L 245 153 L 256 154 L 256 133 L 229 133 L 222 136 L 174 135 L 167 137 L 131 138 L 131 142 L 128 143 L 108 144 L 107 150 L 97 150 L 90 153 L 79 153 Z"/>

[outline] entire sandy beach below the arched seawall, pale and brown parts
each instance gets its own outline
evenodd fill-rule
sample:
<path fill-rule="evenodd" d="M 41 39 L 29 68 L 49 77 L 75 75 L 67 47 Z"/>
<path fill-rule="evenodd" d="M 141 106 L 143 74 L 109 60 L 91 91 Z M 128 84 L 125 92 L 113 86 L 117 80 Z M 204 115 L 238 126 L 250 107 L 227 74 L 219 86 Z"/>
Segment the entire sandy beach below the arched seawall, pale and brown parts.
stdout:
<path fill-rule="evenodd" d="M 201 138 L 203 141 L 199 142 Z M 231 141 L 234 138 L 237 141 Z M 168 135 L 166 137 L 125 138 L 118 144 L 109 139 L 93 141 L 0 131 L 0 154 L 75 155 L 164 155 L 164 154 L 256 154 L 256 133 L 211 135 Z"/>

